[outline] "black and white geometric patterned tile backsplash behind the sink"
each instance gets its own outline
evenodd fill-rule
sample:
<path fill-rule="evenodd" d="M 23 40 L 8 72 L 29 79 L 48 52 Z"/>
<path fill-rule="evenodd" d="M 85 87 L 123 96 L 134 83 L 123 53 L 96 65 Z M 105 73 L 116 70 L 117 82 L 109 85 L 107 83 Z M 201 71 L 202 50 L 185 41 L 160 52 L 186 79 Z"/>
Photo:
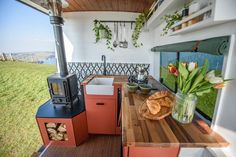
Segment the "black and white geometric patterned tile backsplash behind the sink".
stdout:
<path fill-rule="evenodd" d="M 138 66 L 145 67 L 146 74 L 149 74 L 150 64 L 142 63 L 107 63 L 106 72 L 107 75 L 136 75 Z M 103 63 L 68 62 L 69 73 L 75 73 L 77 75 L 78 84 L 91 74 L 102 74 L 103 69 Z M 80 86 L 78 88 L 79 94 L 81 94 Z"/>

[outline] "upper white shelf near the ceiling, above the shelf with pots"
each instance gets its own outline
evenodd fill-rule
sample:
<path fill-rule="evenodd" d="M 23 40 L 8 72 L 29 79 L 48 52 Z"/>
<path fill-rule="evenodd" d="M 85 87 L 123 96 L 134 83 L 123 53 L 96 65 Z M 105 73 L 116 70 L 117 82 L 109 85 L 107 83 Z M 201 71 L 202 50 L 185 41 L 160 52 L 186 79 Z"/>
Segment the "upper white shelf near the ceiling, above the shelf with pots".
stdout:
<path fill-rule="evenodd" d="M 185 2 L 183 0 L 165 0 L 149 18 L 147 27 L 150 29 L 156 28 L 163 22 L 162 17 L 164 15 L 179 10 L 184 6 Z"/>

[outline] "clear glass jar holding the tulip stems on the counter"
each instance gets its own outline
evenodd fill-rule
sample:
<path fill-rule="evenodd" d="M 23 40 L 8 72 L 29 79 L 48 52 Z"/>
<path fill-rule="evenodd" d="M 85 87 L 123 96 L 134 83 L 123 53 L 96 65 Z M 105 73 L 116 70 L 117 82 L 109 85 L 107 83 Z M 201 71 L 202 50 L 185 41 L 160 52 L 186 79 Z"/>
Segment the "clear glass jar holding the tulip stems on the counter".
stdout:
<path fill-rule="evenodd" d="M 183 94 L 178 91 L 175 95 L 175 105 L 172 109 L 172 117 L 180 123 L 191 123 L 197 104 L 197 96 L 194 94 Z"/>

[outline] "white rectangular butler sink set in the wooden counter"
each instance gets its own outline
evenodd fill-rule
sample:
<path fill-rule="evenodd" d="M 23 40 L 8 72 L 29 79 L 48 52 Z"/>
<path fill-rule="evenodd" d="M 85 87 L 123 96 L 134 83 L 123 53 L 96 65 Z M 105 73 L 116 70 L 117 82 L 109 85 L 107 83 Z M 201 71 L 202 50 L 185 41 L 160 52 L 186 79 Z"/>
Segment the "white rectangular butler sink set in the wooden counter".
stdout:
<path fill-rule="evenodd" d="M 113 95 L 114 78 L 94 78 L 85 87 L 88 95 Z"/>

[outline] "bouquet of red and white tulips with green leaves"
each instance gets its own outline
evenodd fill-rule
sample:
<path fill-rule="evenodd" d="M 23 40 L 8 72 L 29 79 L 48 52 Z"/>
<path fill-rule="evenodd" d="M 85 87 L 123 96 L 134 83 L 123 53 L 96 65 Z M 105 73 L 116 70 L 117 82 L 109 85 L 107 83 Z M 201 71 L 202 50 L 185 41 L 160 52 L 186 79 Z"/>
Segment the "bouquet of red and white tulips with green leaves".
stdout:
<path fill-rule="evenodd" d="M 183 94 L 202 96 L 214 88 L 223 88 L 226 82 L 222 77 L 216 76 L 214 70 L 207 73 L 208 66 L 208 60 L 205 60 L 202 68 L 198 67 L 196 62 L 179 62 L 178 69 L 173 64 L 169 64 L 168 70 L 177 77 L 178 89 Z"/>

